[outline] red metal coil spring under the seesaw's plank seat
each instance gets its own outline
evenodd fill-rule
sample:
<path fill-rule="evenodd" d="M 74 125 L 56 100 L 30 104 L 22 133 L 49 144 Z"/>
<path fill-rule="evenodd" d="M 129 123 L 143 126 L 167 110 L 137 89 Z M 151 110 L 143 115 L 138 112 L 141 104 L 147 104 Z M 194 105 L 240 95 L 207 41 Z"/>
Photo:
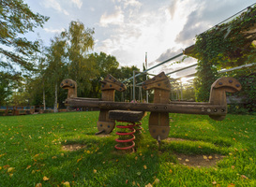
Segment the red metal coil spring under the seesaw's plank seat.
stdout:
<path fill-rule="evenodd" d="M 127 125 L 116 125 L 116 128 L 120 129 L 128 129 L 130 132 L 116 132 L 116 135 L 119 135 L 119 137 L 130 137 L 130 138 L 116 138 L 115 141 L 118 142 L 119 144 L 116 144 L 114 148 L 116 150 L 129 150 L 132 149 L 135 146 L 135 142 L 133 141 L 135 139 L 135 136 L 133 135 L 136 130 L 134 129 L 134 122 L 129 123 Z M 122 147 L 119 147 L 119 145 L 122 144 Z M 131 145 L 128 145 L 131 144 Z"/>

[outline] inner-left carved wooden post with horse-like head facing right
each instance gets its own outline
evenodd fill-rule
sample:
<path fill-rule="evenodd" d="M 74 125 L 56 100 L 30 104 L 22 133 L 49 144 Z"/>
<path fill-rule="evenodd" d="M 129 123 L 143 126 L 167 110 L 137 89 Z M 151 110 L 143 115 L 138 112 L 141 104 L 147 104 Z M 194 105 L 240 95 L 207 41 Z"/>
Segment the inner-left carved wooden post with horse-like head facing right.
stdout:
<path fill-rule="evenodd" d="M 101 99 L 102 101 L 114 101 L 114 92 L 124 92 L 127 87 L 114 79 L 112 75 L 108 75 L 101 82 Z M 109 119 L 109 109 L 100 109 L 98 116 L 98 134 L 110 134 L 113 131 L 115 121 Z"/>

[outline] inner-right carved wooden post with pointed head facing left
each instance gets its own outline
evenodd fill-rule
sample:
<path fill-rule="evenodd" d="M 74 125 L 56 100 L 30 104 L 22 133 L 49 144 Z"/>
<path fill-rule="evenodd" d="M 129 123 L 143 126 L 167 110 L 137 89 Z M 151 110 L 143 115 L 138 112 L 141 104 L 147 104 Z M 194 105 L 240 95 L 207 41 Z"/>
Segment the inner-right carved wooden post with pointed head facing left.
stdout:
<path fill-rule="evenodd" d="M 143 89 L 154 89 L 154 103 L 168 104 L 171 84 L 168 77 L 162 72 L 153 79 L 148 79 L 143 82 Z M 158 109 L 158 107 L 155 107 Z M 165 139 L 169 135 L 169 113 L 168 112 L 154 112 L 149 116 L 149 132 L 152 137 L 158 141 Z"/>

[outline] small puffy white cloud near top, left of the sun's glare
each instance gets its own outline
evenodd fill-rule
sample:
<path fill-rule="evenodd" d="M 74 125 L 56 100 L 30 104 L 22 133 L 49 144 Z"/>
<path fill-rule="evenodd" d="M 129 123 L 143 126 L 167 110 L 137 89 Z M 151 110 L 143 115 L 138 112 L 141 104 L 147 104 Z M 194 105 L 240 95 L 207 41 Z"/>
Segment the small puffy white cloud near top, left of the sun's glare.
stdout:
<path fill-rule="evenodd" d="M 99 25 L 107 27 L 110 24 L 122 24 L 124 22 L 124 13 L 120 7 L 115 7 L 113 14 L 104 13 L 99 20 Z"/>

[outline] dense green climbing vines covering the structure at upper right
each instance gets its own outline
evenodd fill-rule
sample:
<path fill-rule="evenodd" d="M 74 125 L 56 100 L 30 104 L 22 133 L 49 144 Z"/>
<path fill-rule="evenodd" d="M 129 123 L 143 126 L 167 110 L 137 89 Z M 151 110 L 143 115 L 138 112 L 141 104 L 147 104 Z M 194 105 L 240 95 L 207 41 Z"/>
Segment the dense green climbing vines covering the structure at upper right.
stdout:
<path fill-rule="evenodd" d="M 196 98 L 207 101 L 210 86 L 218 78 L 218 70 L 244 65 L 255 60 L 252 42 L 255 36 L 249 29 L 256 22 L 256 7 L 236 17 L 232 22 L 218 25 L 196 37 L 193 56 L 198 59 Z"/>

